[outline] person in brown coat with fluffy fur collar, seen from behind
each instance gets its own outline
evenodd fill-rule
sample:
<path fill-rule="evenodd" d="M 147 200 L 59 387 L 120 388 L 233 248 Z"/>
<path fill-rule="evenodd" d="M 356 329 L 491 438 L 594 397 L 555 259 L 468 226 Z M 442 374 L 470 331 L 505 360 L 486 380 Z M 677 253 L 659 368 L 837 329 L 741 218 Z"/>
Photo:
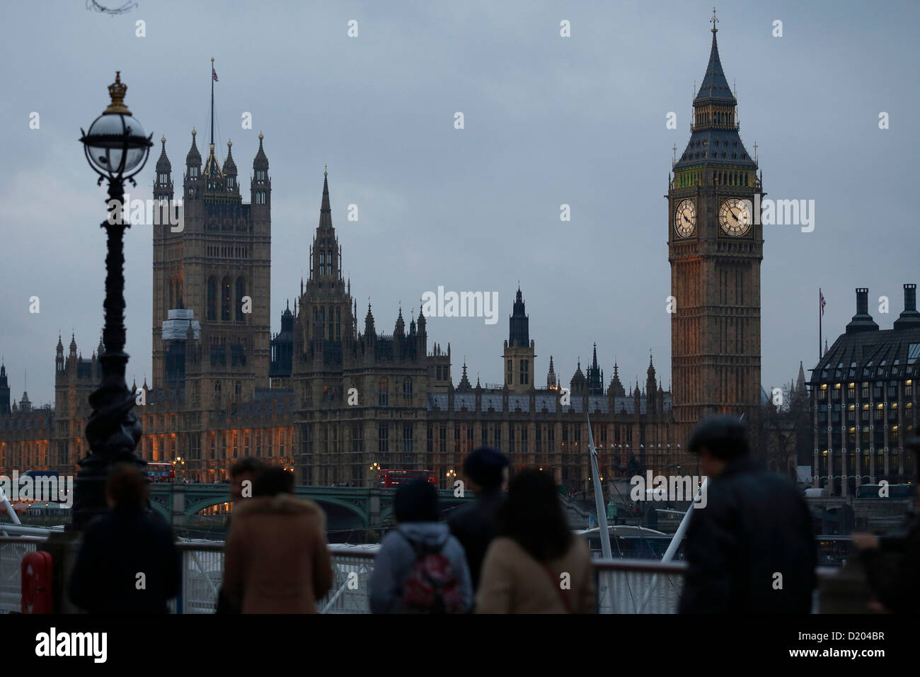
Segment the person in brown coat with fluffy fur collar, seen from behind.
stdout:
<path fill-rule="evenodd" d="M 332 586 L 326 515 L 293 496 L 293 474 L 269 468 L 237 501 L 224 548 L 224 593 L 242 613 L 316 613 Z"/>

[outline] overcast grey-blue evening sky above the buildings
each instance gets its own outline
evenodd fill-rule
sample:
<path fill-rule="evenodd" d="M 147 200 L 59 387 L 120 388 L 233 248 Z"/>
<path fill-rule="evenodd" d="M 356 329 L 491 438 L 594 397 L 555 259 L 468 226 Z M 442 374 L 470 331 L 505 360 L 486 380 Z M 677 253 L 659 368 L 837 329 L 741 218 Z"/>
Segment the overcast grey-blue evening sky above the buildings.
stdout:
<path fill-rule="evenodd" d="M 100 0 L 103 4 L 107 0 Z M 112 5 L 121 0 L 108 0 Z M 719 3 L 719 53 L 737 82 L 742 140 L 765 191 L 815 201 L 815 228 L 765 227 L 763 385 L 818 357 L 868 286 L 882 329 L 917 266 L 920 52 L 916 3 Z M 568 383 L 592 343 L 605 379 L 644 383 L 649 349 L 671 378 L 666 201 L 672 146 L 689 137 L 707 66 L 708 2 L 161 2 L 109 17 L 84 0 L 5 3 L 0 120 L 0 354 L 13 397 L 53 398 L 54 346 L 88 357 L 104 297 L 104 188 L 77 142 L 121 70 L 127 104 L 167 137 L 181 185 L 194 126 L 208 129 L 211 57 L 221 159 L 232 139 L 248 181 L 258 134 L 272 181 L 272 332 L 307 266 L 328 163 L 333 225 L 360 317 L 392 332 L 439 285 L 495 291 L 500 321 L 433 318 L 454 383 L 499 382 L 520 280 L 536 344 Z M 136 37 L 145 22 L 146 36 Z M 347 35 L 358 22 L 358 37 Z M 559 35 L 569 20 L 571 37 Z M 783 37 L 773 37 L 774 21 Z M 29 115 L 40 114 L 40 128 Z M 252 113 L 253 128 L 241 128 Z M 454 113 L 465 129 L 454 129 Z M 669 111 L 677 129 L 665 127 Z M 880 111 L 890 129 L 879 129 Z M 199 144 L 202 155 L 206 144 Z M 156 144 L 132 197 L 151 194 Z M 359 221 L 346 219 L 357 204 Z M 571 221 L 559 220 L 569 204 Z M 910 233 L 914 233 L 911 236 Z M 152 235 L 126 235 L 129 384 L 151 370 Z M 880 315 L 877 299 L 891 299 Z M 40 313 L 29 298 L 40 298 Z M 259 302 L 259 299 L 255 299 Z M 417 310 L 416 310 L 417 312 Z M 362 327 L 362 321 L 360 321 Z"/>

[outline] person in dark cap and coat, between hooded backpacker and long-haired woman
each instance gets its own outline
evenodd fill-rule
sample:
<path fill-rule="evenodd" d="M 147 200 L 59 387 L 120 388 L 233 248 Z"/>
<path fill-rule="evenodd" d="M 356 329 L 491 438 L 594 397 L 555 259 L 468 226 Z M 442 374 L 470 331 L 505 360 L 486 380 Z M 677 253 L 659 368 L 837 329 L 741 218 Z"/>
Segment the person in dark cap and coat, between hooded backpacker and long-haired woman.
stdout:
<path fill-rule="evenodd" d="M 473 492 L 475 502 L 454 512 L 448 520 L 451 532 L 464 547 L 473 589 L 479 587 L 479 572 L 489 543 L 495 538 L 496 517 L 504 504 L 501 491 L 508 458 L 488 447 L 480 447 L 463 464 L 466 486 Z"/>

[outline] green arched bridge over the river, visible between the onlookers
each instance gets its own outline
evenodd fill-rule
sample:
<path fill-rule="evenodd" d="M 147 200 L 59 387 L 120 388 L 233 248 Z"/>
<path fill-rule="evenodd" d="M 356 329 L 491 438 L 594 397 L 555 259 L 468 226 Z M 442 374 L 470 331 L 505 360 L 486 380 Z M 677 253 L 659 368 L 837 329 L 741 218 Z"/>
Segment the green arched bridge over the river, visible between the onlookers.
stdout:
<path fill-rule="evenodd" d="M 315 501 L 327 515 L 327 527 L 334 530 L 370 529 L 392 521 L 393 496 L 396 489 L 359 486 L 298 486 L 296 496 Z M 454 496 L 453 490 L 439 490 L 438 498 L 444 512 L 468 503 L 473 495 Z M 189 518 L 205 508 L 230 501 L 229 484 L 167 484 L 150 485 L 151 506 L 174 528 L 181 529 Z"/>

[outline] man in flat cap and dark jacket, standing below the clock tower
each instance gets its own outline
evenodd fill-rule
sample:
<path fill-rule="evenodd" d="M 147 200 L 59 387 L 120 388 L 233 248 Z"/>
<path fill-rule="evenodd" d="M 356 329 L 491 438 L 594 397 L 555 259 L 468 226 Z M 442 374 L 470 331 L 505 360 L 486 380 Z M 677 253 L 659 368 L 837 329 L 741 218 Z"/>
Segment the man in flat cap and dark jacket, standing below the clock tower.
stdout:
<path fill-rule="evenodd" d="M 704 421 L 689 448 L 708 479 L 684 542 L 681 613 L 809 613 L 817 550 L 798 489 L 750 458 L 734 418 Z"/>

